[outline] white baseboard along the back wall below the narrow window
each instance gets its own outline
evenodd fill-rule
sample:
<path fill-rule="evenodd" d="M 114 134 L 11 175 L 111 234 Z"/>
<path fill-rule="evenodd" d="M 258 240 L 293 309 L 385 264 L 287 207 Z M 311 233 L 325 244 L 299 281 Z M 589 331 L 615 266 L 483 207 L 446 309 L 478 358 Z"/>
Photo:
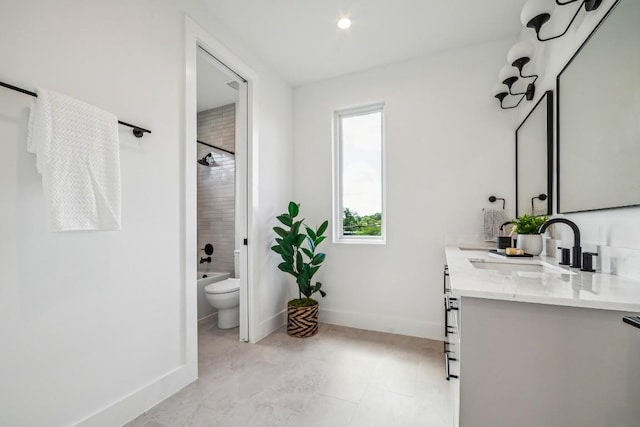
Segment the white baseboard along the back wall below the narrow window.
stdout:
<path fill-rule="evenodd" d="M 319 316 L 320 322 L 332 325 L 429 338 L 438 341 L 442 341 L 443 339 L 444 325 L 442 323 L 323 308 L 320 309 Z"/>

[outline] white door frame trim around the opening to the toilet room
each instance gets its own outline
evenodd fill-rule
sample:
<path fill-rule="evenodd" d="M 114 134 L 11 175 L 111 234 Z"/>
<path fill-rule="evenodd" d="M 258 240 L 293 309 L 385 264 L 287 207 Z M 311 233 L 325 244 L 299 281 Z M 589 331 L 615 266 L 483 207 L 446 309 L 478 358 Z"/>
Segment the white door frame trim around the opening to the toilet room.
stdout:
<path fill-rule="evenodd" d="M 198 48 L 206 50 L 218 61 L 223 63 L 232 72 L 241 76 L 246 81 L 246 144 L 236 147 L 236 200 L 244 204 L 242 212 L 236 212 L 236 242 L 242 243 L 248 239 L 249 243 L 255 241 L 256 227 L 253 211 L 257 206 L 255 202 L 254 179 L 257 176 L 257 162 L 254 161 L 256 135 L 255 118 L 256 103 L 256 73 L 240 58 L 223 46 L 201 26 L 196 24 L 188 16 L 185 17 L 185 141 L 183 149 L 184 184 L 183 184 L 183 232 L 184 248 L 183 272 L 184 272 L 184 351 L 185 364 L 194 367 L 197 372 L 198 365 L 198 324 L 197 324 L 197 292 L 196 292 L 196 263 L 197 259 L 197 169 L 196 169 L 196 138 L 197 138 L 197 78 L 196 57 Z M 244 203 L 242 203 L 244 202 Z M 236 206 L 238 203 L 236 202 Z M 240 220 L 240 223 L 238 223 Z M 240 226 L 239 226 L 240 225 Z M 237 243 L 238 244 L 238 243 Z M 252 245 L 240 245 L 240 340 L 253 342 L 255 334 L 255 307 L 253 301 L 255 292 L 253 288 Z M 244 274 L 243 274 L 244 273 Z"/>

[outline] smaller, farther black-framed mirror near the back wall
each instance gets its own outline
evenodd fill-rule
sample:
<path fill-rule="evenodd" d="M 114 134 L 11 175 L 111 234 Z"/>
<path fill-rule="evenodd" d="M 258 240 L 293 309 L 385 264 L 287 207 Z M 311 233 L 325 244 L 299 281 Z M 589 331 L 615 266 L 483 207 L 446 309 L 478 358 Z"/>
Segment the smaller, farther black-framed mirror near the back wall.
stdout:
<path fill-rule="evenodd" d="M 553 92 L 516 129 L 516 217 L 551 215 Z"/>

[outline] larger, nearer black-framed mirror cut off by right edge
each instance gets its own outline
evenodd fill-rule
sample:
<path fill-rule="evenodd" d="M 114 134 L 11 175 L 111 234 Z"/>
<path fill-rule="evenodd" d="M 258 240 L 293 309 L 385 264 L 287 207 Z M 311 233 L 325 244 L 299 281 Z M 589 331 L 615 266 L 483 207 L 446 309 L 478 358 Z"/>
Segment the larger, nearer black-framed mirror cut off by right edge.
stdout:
<path fill-rule="evenodd" d="M 640 205 L 639 23 L 616 2 L 558 75 L 560 213 Z"/>

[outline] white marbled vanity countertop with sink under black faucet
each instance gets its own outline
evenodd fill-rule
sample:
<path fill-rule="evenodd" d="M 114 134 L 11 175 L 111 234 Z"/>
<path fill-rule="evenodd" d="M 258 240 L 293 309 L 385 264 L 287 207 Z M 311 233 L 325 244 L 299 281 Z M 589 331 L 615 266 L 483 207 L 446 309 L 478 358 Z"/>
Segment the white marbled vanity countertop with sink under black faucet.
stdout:
<path fill-rule="evenodd" d="M 503 258 L 491 256 L 486 250 L 462 250 L 453 246 L 447 247 L 445 252 L 455 296 L 640 312 L 639 280 L 582 272 L 560 266 L 554 258 Z M 543 262 L 549 268 L 545 268 L 546 271 L 481 269 L 470 260 L 474 260 L 475 265 Z"/>

